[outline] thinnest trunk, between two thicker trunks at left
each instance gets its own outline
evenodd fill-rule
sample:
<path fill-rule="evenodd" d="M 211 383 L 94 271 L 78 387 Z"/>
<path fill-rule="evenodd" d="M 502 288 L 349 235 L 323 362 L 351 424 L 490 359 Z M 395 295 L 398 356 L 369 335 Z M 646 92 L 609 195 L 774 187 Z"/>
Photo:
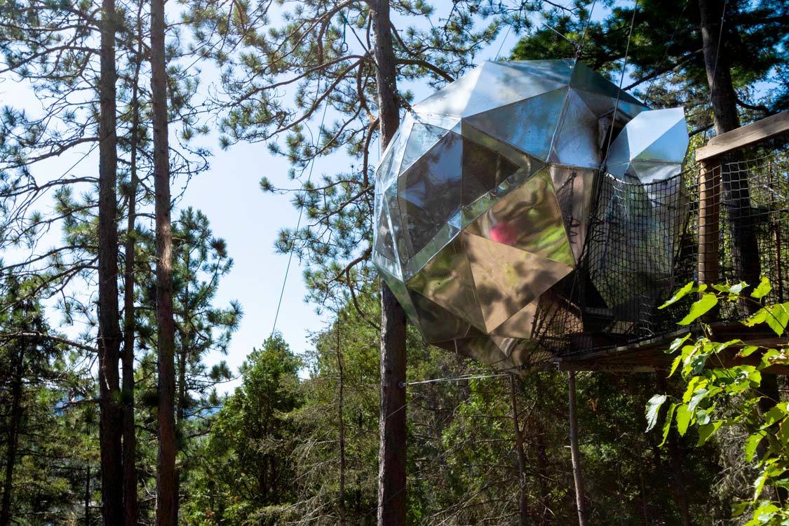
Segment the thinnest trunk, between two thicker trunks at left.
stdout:
<path fill-rule="evenodd" d="M 126 220 L 125 242 L 125 288 L 123 289 L 123 500 L 125 526 L 137 524 L 137 470 L 136 470 L 136 432 L 134 427 L 134 266 L 136 239 L 134 236 L 137 204 L 137 146 L 140 135 L 139 82 L 140 67 L 143 61 L 142 8 L 137 8 L 137 49 L 132 85 L 132 136 L 129 144 L 131 159 L 129 163 L 129 216 Z"/>

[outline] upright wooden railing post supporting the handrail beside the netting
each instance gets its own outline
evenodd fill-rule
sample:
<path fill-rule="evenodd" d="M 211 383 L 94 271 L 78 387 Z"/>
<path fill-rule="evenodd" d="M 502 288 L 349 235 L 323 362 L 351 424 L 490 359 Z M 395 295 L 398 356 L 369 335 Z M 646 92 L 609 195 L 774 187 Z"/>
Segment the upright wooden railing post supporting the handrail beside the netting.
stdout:
<path fill-rule="evenodd" d="M 698 282 L 712 285 L 720 278 L 720 162 L 702 161 L 698 178 Z"/>

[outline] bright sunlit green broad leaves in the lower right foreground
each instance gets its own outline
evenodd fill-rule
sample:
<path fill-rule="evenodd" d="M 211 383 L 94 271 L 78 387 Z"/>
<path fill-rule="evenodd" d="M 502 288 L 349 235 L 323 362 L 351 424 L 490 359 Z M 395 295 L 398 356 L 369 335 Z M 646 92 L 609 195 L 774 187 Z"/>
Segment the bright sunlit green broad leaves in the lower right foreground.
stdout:
<path fill-rule="evenodd" d="M 690 308 L 690 313 L 680 322 L 692 323 L 719 303 L 752 302 L 758 310 L 743 324 L 766 324 L 777 335 L 783 335 L 789 322 L 789 304 L 760 304 L 770 292 L 766 278 L 746 295 L 748 285 L 743 282 L 731 285 L 713 285 L 712 292 L 705 292 L 704 285 L 686 285 L 668 300 L 664 307 L 679 300 L 687 293 L 701 293 Z M 646 408 L 647 431 L 656 426 L 660 406 L 671 400 L 664 416 L 664 436 L 671 424 L 679 435 L 689 429 L 698 435 L 701 446 L 722 430 L 736 429 L 745 432 L 741 441 L 742 455 L 753 472 L 753 491 L 750 497 L 735 506 L 735 514 L 750 511 L 749 525 L 789 523 L 789 505 L 782 492 L 789 489 L 789 408 L 787 403 L 769 397 L 762 386 L 768 367 L 789 364 L 789 344 L 776 347 L 747 345 L 740 339 L 717 342 L 710 337 L 709 326 L 702 324 L 705 334 L 693 338 L 690 334 L 677 338 L 668 353 L 676 354 L 669 375 L 679 371 L 685 390 L 681 397 L 656 394 Z M 739 362 L 732 364 L 727 356 L 737 351 Z"/>

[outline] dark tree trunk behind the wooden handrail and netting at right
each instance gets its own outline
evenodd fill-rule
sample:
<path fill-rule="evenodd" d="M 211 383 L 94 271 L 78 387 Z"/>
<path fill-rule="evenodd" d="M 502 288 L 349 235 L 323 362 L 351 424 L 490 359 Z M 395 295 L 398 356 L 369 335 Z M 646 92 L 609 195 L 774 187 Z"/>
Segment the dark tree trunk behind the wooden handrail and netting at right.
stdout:
<path fill-rule="evenodd" d="M 715 131 L 730 132 L 740 126 L 737 114 L 737 94 L 731 83 L 731 69 L 726 47 L 721 44 L 726 39 L 720 38 L 720 21 L 725 5 L 719 0 L 698 0 L 701 15 L 701 43 L 704 52 L 704 64 L 709 84 L 709 98 L 712 103 L 712 114 L 715 116 Z M 736 160 L 736 159 L 730 159 Z M 758 245 L 756 231 L 750 218 L 750 187 L 746 171 L 732 173 L 722 170 L 720 174 L 723 186 L 723 201 L 729 211 L 731 221 L 731 258 L 735 271 L 740 278 L 750 285 L 759 282 L 761 264 L 757 256 Z M 751 304 L 744 304 L 751 309 Z"/>

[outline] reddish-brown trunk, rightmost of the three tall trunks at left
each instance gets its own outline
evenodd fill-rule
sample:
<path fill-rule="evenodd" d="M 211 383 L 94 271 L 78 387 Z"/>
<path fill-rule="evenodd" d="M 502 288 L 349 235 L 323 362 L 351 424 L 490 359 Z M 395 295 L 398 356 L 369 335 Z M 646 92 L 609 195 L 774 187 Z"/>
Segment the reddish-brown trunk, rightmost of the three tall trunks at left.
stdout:
<path fill-rule="evenodd" d="M 167 73 L 164 0 L 151 0 L 151 101 L 156 217 L 156 325 L 159 365 L 159 457 L 156 524 L 174 526 L 175 513 L 175 323 L 173 319 L 170 157 L 167 146 Z"/>

